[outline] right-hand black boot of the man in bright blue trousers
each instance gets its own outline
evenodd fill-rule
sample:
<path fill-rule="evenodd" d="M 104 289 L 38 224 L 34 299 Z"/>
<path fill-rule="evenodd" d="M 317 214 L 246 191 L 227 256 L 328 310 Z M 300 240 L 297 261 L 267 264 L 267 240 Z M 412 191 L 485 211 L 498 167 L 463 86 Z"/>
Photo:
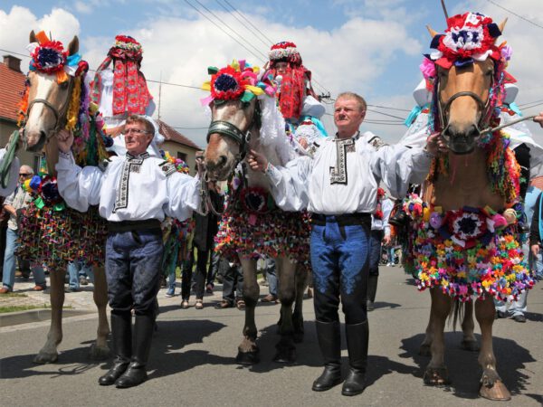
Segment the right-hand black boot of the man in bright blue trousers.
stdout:
<path fill-rule="evenodd" d="M 367 320 L 360 324 L 345 325 L 348 349 L 347 379 L 343 383 L 341 394 L 351 396 L 364 392 L 366 387 L 367 342 L 369 328 Z"/>

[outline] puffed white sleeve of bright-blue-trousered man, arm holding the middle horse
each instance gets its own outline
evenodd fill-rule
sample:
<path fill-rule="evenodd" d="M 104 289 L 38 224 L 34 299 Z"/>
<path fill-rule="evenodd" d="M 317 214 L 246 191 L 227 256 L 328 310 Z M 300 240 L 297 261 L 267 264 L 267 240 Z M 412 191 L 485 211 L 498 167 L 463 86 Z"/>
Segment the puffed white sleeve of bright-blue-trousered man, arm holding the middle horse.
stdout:
<path fill-rule="evenodd" d="M 286 166 L 269 166 L 266 175 L 271 184 L 275 204 L 283 211 L 298 212 L 310 203 L 309 178 L 313 159 L 296 157 Z"/>

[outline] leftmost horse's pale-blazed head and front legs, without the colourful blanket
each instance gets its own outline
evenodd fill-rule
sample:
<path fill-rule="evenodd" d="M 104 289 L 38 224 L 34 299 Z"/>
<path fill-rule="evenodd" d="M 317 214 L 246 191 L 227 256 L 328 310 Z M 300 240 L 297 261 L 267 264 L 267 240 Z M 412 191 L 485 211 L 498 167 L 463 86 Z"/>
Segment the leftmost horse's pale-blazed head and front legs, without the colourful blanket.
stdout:
<path fill-rule="evenodd" d="M 32 31 L 30 33 L 30 43 L 40 43 L 63 52 L 63 49 L 61 49 L 62 44 L 50 42 L 43 32 L 36 35 Z M 72 60 L 75 59 L 79 55 L 78 51 L 79 39 L 77 36 L 74 36 L 68 46 L 67 52 L 65 52 L 68 61 L 70 61 L 70 58 Z M 59 55 L 62 55 L 62 53 L 59 53 Z M 28 73 L 27 80 L 28 99 L 23 119 L 24 147 L 27 151 L 33 152 L 43 150 L 46 155 L 49 174 L 54 175 L 56 174 L 54 167 L 58 162 L 59 156 L 57 138 L 54 136 L 61 128 L 66 127 L 72 92 L 76 91 L 77 88 L 76 79 L 71 75 L 65 75 L 65 72 L 62 70 L 47 72 L 43 66 L 36 67 L 37 64 L 33 63 L 34 65 L 33 67 L 31 65 L 31 71 Z M 84 63 L 86 64 L 86 62 Z M 81 66 L 81 62 L 79 68 L 83 70 L 82 74 L 84 74 L 85 67 L 84 65 Z M 76 67 L 74 66 L 73 69 L 75 70 Z M 62 76 L 62 81 L 59 80 L 60 76 Z M 77 109 L 76 115 L 79 114 L 80 108 L 79 103 L 77 106 L 74 106 L 74 109 Z M 70 208 L 66 208 L 64 211 L 67 211 L 66 215 L 73 222 L 78 222 L 79 219 L 86 216 L 86 213 L 77 213 Z M 100 222 L 98 213 L 92 213 L 89 216 L 85 217 L 87 222 Z M 43 244 L 41 241 L 34 243 L 36 245 Z M 79 246 L 83 245 L 84 241 L 73 241 L 71 244 Z M 45 258 L 43 260 L 48 259 Z M 57 347 L 62 341 L 62 305 L 64 303 L 64 275 L 66 270 L 55 270 L 59 265 L 55 264 L 52 260 L 48 262 L 48 266 L 50 268 L 51 279 L 51 326 L 45 344 L 33 360 L 34 363 L 39 364 L 56 362 L 58 359 Z M 103 259 L 101 260 L 100 267 L 95 268 L 94 276 L 93 298 L 98 308 L 98 330 L 96 340 L 90 346 L 89 355 L 92 359 L 103 360 L 110 355 L 110 348 L 107 344 L 110 327 L 106 314 L 108 288 L 103 269 Z"/>

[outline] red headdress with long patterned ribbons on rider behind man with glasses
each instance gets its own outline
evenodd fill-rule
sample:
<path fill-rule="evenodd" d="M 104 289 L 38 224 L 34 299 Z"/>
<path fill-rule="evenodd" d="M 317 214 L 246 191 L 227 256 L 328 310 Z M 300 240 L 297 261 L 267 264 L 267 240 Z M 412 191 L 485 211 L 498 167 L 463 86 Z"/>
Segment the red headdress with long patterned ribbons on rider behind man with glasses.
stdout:
<path fill-rule="evenodd" d="M 117 35 L 115 45 L 110 48 L 108 56 L 100 64 L 91 83 L 92 101 L 103 109 L 100 99 L 103 91 L 102 74 L 110 69 L 113 62 L 112 107 L 104 110 L 104 115 L 118 116 L 125 114 L 146 113 L 148 105 L 153 99 L 149 93 L 147 81 L 141 67 L 143 48 L 134 38 L 128 35 Z"/>

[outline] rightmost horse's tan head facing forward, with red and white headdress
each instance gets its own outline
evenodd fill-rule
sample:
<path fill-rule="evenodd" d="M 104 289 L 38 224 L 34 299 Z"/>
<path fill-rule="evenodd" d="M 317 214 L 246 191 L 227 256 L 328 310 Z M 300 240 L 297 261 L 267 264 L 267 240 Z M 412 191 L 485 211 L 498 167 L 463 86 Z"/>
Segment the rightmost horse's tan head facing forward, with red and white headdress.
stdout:
<path fill-rule="evenodd" d="M 469 25 L 454 25 L 444 35 L 428 27 L 433 48 L 438 49 L 434 98 L 439 126 L 453 154 L 471 153 L 491 119 L 491 92 L 497 91 L 497 65 L 502 63 L 500 48 L 494 43 L 505 23 L 491 23 L 491 28 L 481 25 L 479 31 Z M 483 35 L 493 41 L 483 42 Z M 476 47 L 481 52 L 471 52 Z"/>

